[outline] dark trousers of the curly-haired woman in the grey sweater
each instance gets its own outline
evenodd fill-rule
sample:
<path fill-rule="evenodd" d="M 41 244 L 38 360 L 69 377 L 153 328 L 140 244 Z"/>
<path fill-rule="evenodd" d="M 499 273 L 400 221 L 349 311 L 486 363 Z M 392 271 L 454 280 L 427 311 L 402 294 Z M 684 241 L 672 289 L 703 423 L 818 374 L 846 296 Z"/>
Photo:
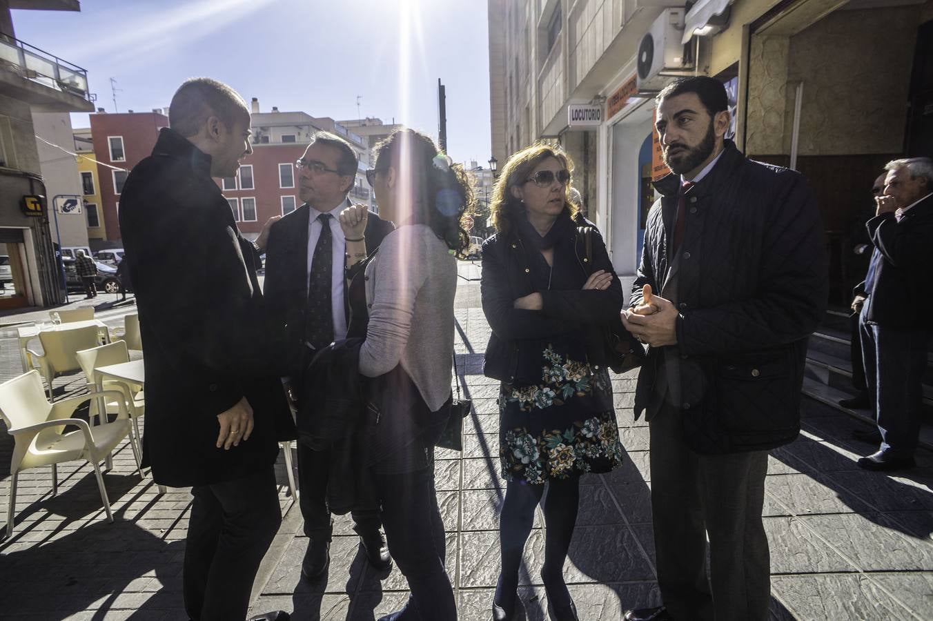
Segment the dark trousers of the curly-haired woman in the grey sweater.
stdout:
<path fill-rule="evenodd" d="M 411 601 L 405 619 L 456 619 L 453 586 L 444 568 L 446 545 L 434 488 L 434 469 L 376 475 L 389 552 L 408 580 Z"/>

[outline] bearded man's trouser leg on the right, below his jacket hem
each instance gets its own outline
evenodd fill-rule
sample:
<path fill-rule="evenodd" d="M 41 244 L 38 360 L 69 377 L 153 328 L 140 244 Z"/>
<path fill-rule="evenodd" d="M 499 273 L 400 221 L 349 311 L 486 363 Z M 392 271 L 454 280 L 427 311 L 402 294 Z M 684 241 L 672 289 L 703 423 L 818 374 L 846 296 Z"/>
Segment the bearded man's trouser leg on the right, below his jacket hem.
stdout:
<path fill-rule="evenodd" d="M 716 621 L 764 621 L 771 600 L 761 520 L 768 452 L 699 456 Z"/>

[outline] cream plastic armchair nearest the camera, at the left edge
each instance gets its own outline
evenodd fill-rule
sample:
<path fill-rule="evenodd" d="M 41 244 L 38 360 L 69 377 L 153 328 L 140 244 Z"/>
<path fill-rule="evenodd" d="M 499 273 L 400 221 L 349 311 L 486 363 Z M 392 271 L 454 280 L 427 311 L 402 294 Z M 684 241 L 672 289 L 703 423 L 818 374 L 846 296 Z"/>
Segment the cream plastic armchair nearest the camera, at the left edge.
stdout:
<path fill-rule="evenodd" d="M 130 420 L 126 407 L 121 407 L 117 420 L 91 427 L 87 421 L 69 418 L 75 408 L 98 394 L 107 398 L 120 393 L 82 394 L 55 403 L 46 400 L 42 379 L 35 369 L 18 378 L 0 384 L 0 417 L 7 423 L 13 436 L 13 458 L 10 462 L 9 506 L 7 508 L 7 537 L 13 534 L 16 513 L 16 480 L 22 470 L 39 466 L 52 466 L 52 495 L 58 493 L 56 464 L 73 460 L 87 460 L 94 467 L 97 487 L 101 491 L 107 521 L 113 522 L 110 500 L 104 488 L 100 462 L 130 434 Z M 65 425 L 77 426 L 77 431 L 65 431 Z M 131 443 L 132 446 L 132 443 Z M 134 456 L 135 447 L 133 447 Z"/>

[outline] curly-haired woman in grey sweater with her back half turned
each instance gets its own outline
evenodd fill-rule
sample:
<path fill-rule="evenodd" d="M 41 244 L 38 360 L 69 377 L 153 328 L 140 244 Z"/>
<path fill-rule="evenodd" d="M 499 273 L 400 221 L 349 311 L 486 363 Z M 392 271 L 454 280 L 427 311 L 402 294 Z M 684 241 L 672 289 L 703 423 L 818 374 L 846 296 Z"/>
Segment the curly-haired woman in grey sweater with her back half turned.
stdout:
<path fill-rule="evenodd" d="M 456 606 L 444 568 L 434 445 L 450 414 L 454 256 L 469 244 L 462 219 L 473 192 L 463 169 L 411 130 L 376 145 L 376 167 L 367 178 L 380 215 L 397 228 L 351 268 L 349 332 L 366 337 L 359 370 L 371 378 L 367 453 L 386 542 L 411 588 L 405 607 L 381 621 L 449 621 Z M 365 210 L 348 207 L 340 220 L 347 254 L 365 255 L 351 246 L 361 243 L 356 229 L 366 226 Z"/>

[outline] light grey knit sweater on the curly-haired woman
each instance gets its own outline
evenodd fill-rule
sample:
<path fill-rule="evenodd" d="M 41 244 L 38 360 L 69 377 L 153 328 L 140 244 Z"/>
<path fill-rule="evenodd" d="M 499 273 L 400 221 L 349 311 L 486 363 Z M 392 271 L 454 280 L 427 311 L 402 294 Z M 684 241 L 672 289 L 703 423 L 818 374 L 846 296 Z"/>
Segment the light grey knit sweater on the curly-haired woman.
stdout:
<path fill-rule="evenodd" d="M 360 373 L 375 378 L 401 363 L 427 407 L 438 409 L 451 395 L 456 259 L 426 225 L 404 226 L 385 237 L 366 277 Z"/>

